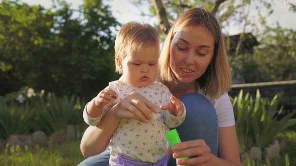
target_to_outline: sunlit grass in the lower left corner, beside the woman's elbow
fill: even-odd
[[[48,146],[19,146],[0,152],[0,165],[77,165],[85,157],[80,152],[80,140]]]

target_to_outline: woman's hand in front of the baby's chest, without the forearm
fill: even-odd
[[[114,107],[114,115],[118,118],[133,118],[149,123],[153,118],[152,111],[159,113],[160,108],[138,92],[131,92]]]

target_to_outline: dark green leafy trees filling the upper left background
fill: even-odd
[[[75,11],[64,0],[50,9],[3,0],[0,23],[1,73],[20,87],[89,97],[117,77],[111,28],[119,23],[101,0]]]

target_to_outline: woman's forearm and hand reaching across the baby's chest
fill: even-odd
[[[155,104],[137,92],[132,92],[115,104],[97,126],[89,126],[83,134],[80,149],[84,156],[101,153],[108,145],[121,118],[133,118],[149,123],[152,111],[160,112]]]

